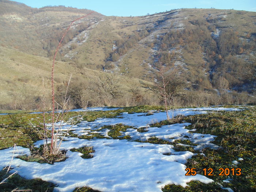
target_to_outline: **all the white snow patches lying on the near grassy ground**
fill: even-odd
[[[237,108],[186,108],[170,110],[170,116],[204,114],[211,111],[228,110],[237,111]],[[111,113],[111,112],[110,112]],[[42,180],[56,183],[58,187],[55,191],[69,192],[76,187],[91,187],[99,191],[154,191],[161,192],[161,188],[167,184],[176,184],[183,187],[187,182],[198,180],[204,183],[212,182],[211,179],[197,174],[196,176],[185,176],[184,165],[193,153],[189,151],[175,151],[172,145],[151,144],[142,142],[132,142],[133,139],[142,141],[150,137],[157,137],[173,141],[175,139],[189,139],[197,144],[194,147],[200,150],[202,147],[218,146],[211,143],[216,136],[199,133],[189,133],[186,126],[189,123],[165,125],[161,128],[149,127],[149,124],[166,119],[165,112],[155,111],[152,115],[147,113],[123,113],[119,118],[98,118],[93,122],[82,121],[77,125],[59,123],[62,131],[71,129],[78,135],[91,135],[94,130],[108,136],[109,129],[101,129],[104,125],[114,125],[122,123],[133,126],[122,132],[122,135],[130,135],[131,140],[119,139],[96,139],[91,140],[79,138],[65,138],[61,144],[61,149],[68,150],[68,158],[64,162],[56,162],[53,165],[37,162],[26,162],[17,157],[22,154],[30,154],[28,148],[17,147],[0,150],[0,169],[11,164],[18,174],[28,179],[42,178]],[[121,118],[120,118],[121,117]],[[49,127],[50,128],[50,127]],[[136,128],[144,128],[140,133]],[[191,131],[191,130],[190,130]],[[192,130],[193,131],[193,130]],[[194,130],[195,131],[195,130]],[[184,137],[186,136],[186,137]],[[38,141],[35,144],[42,144]],[[82,154],[69,151],[72,148],[92,146],[95,150],[93,158],[83,159]],[[170,155],[163,155],[170,153]]]

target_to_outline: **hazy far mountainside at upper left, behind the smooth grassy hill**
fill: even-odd
[[[55,50],[67,25],[92,11],[64,6],[38,9],[8,0],[0,1],[0,4],[0,45],[38,56],[52,56],[48,52]],[[94,12],[86,19],[101,16]],[[68,35],[73,37],[72,30]]]

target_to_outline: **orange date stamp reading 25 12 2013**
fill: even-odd
[[[186,168],[185,171],[187,173],[185,176],[195,176],[197,174],[196,168]],[[242,170],[240,168],[219,168],[217,176],[240,176],[242,174]],[[214,176],[214,171],[212,168],[204,168],[203,169],[203,175],[204,176]]]

